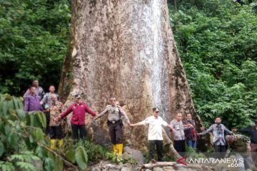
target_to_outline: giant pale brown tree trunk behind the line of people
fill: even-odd
[[[98,113],[115,96],[131,123],[151,115],[153,107],[167,122],[178,111],[196,115],[166,0],[72,1],[59,94],[70,105],[76,93]],[[97,142],[109,142],[105,119],[99,126],[104,129],[93,129]],[[147,128],[125,127],[124,136],[133,147],[147,148]]]

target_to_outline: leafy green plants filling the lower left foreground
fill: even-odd
[[[66,139],[63,148],[50,150],[49,138],[42,131],[46,128],[45,114],[24,113],[21,100],[0,94],[0,170],[36,170],[37,160],[49,171],[64,170],[65,160],[74,164],[75,170],[86,170],[88,162],[106,157],[108,149],[89,141],[74,145]]]

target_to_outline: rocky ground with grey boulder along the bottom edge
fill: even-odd
[[[137,164],[131,163],[113,163],[111,161],[100,161],[91,165],[90,171],[237,171],[238,167],[228,167],[227,164],[216,165],[182,165],[177,162],[156,162],[147,164],[143,154],[139,150],[133,150],[130,147],[124,147],[124,160],[133,158]],[[257,171],[256,167],[252,167],[253,171]]]

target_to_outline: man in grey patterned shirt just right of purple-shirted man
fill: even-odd
[[[49,108],[51,107],[51,95],[56,94],[55,93],[55,87],[54,85],[49,86],[49,93],[46,93],[44,95],[44,98],[42,98],[40,104],[44,106],[44,113],[46,114],[46,133],[49,133],[49,122],[50,122],[50,111]],[[58,95],[56,94],[56,97],[58,98]]]

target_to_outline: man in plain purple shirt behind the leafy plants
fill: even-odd
[[[43,110],[39,99],[39,96],[36,95],[36,87],[31,86],[29,88],[29,94],[24,98],[24,111],[31,112]]]

